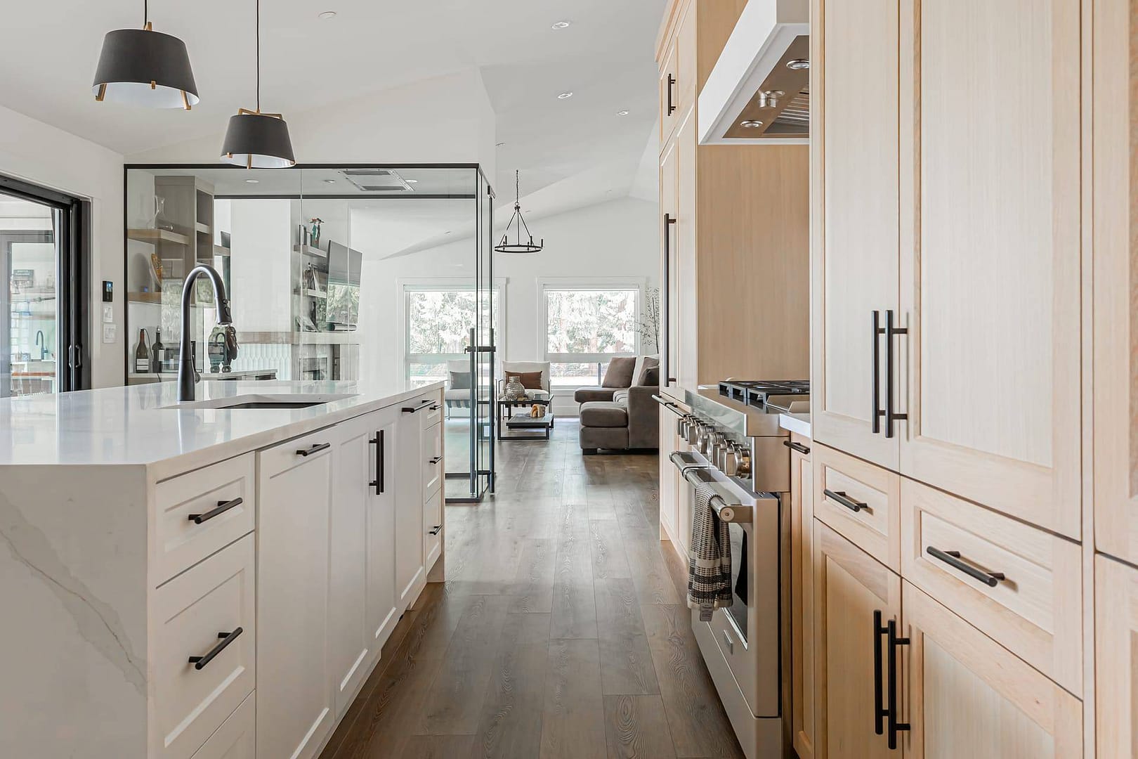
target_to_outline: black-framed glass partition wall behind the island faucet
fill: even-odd
[[[189,271],[225,281],[237,356],[198,278],[203,381],[446,381],[447,498],[493,487],[493,192],[464,165],[126,167],[127,383],[176,378]],[[226,371],[228,370],[228,371]]]

